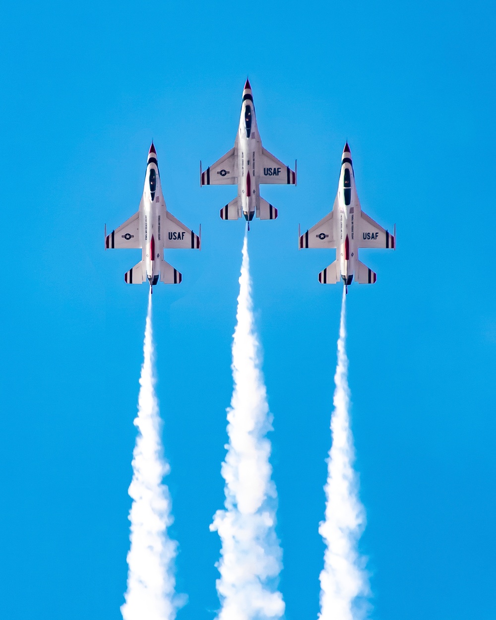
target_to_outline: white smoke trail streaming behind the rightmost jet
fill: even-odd
[[[325,520],[319,527],[326,549],[321,572],[321,620],[355,620],[368,612],[368,575],[357,542],[365,528],[365,510],[358,499],[353,470],[355,451],[350,428],[350,389],[346,355],[346,294],[343,289],[334,411],[330,420],[332,447],[327,459]]]

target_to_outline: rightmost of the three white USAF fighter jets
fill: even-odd
[[[332,211],[303,235],[299,234],[299,248],[304,247],[337,249],[336,260],[319,273],[319,282],[336,284],[343,280],[347,293],[353,275],[358,284],[374,284],[377,279],[377,274],[358,260],[358,248],[394,250],[396,247],[396,224],[393,234],[389,234],[361,210],[348,142],[343,149],[339,186]]]

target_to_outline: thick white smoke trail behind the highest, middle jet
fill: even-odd
[[[285,610],[278,591],[281,547],[275,533],[277,492],[269,463],[272,415],[254,329],[247,235],[242,250],[237,325],[232,342],[234,391],[228,409],[228,453],[222,464],[226,500],[211,531],[221,538],[216,582],[219,620],[268,620]]]

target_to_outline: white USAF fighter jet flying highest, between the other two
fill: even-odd
[[[260,197],[260,184],[296,185],[296,161],[294,171],[266,151],[260,141],[255,118],[252,87],[246,81],[241,102],[239,129],[234,148],[204,172],[200,162],[201,185],[237,185],[237,197],[221,208],[222,219],[250,221],[277,218],[277,209]]]

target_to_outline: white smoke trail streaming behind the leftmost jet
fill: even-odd
[[[163,456],[162,422],[155,395],[154,348],[151,322],[151,293],[144,331],[143,366],[139,378],[138,437],[133,451],[133,499],[131,547],[128,552],[124,620],[174,620],[179,606],[175,597],[174,558],[177,543],[167,536],[173,519],[169,489],[162,479],[170,467]]]

